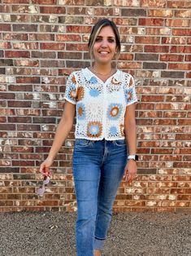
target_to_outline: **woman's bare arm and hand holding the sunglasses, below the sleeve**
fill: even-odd
[[[72,130],[75,117],[75,109],[76,106],[66,100],[63,109],[63,116],[61,117],[59,125],[57,126],[52,147],[50,148],[50,152],[46,158],[46,161],[43,161],[41,164],[40,171],[42,171],[43,168],[50,167],[52,165],[54,158],[63,145],[64,140],[67,138],[70,130]]]

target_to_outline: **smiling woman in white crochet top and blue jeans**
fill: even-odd
[[[119,52],[116,25],[111,20],[99,20],[89,38],[93,64],[68,77],[63,116],[49,156],[40,168],[52,165],[76,113],[73,177],[78,256],[101,255],[119,183],[123,175],[130,182],[137,174],[137,96],[132,76],[113,64]]]

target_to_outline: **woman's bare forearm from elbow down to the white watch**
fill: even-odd
[[[125,138],[128,143],[129,155],[134,155],[137,152],[137,129],[136,121],[127,121],[125,124]]]

